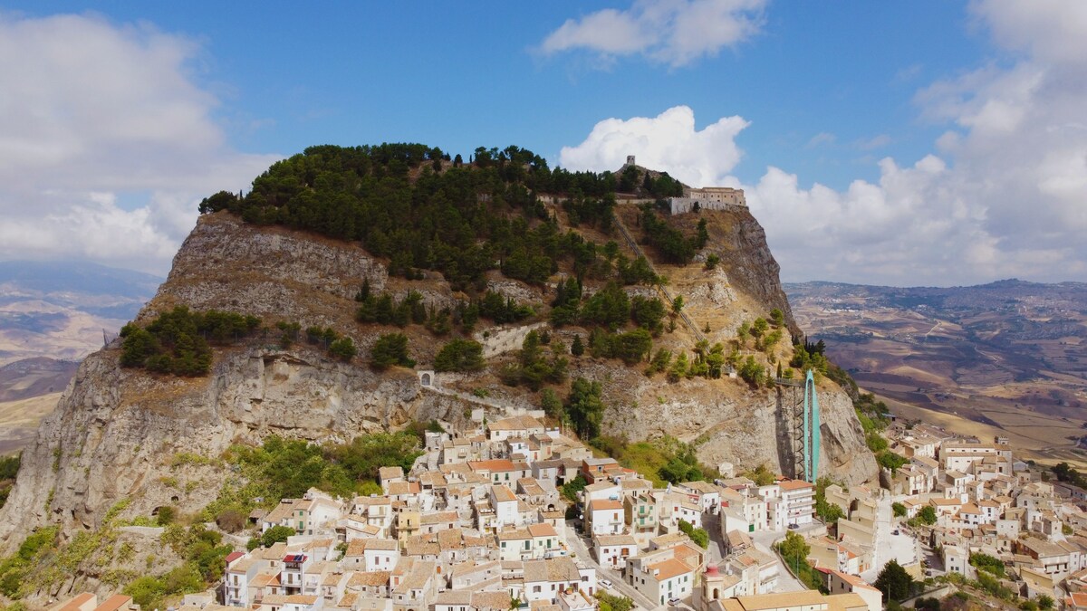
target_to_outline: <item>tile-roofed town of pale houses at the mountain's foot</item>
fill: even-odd
[[[311,488],[253,512],[221,587],[182,609],[876,611],[898,608],[892,563],[922,601],[1087,607],[1087,490],[1005,439],[895,423],[882,488],[727,463],[662,488],[541,416],[428,431],[408,472],[380,469],[380,494]]]

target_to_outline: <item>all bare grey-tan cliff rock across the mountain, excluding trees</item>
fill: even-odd
[[[788,312],[788,303],[777,282],[777,264],[750,214],[715,212],[708,217],[711,249],[721,253],[722,266],[713,273],[696,273],[699,265],[667,273],[673,290],[689,297],[691,316],[712,325],[711,341],[724,341],[741,320],[765,315],[775,307]],[[355,246],[246,225],[216,213],[200,219],[140,319],[175,304],[233,310],[260,315],[267,325],[286,320],[303,328],[333,326],[352,336],[365,354],[377,335],[389,329],[353,321],[352,297],[362,278],[368,278],[375,291],[420,290],[430,304],[452,303],[458,297],[440,277],[413,283],[390,278],[383,261]],[[492,284],[523,300],[546,303],[552,298],[548,290],[501,276]],[[412,336],[418,369],[427,369],[440,342],[422,327],[405,333]],[[505,335],[496,334],[488,346],[515,349],[515,341],[498,341]],[[692,341],[678,329],[659,345],[689,350]],[[502,358],[491,352],[488,358]],[[362,358],[345,364],[304,345],[279,349],[274,334],[216,349],[212,373],[203,378],[123,370],[118,353],[115,344],[84,361],[57,411],[26,449],[17,483],[0,510],[0,537],[8,549],[47,523],[60,523],[68,534],[96,527],[107,509],[123,498],[130,499],[132,515],[148,515],[166,504],[197,511],[228,476],[215,459],[234,442],[255,444],[273,433],[347,440],[402,427],[411,420],[463,424],[472,409],[493,410],[499,401],[538,404],[526,390],[499,385],[491,372],[449,376],[449,387],[435,390],[422,387],[409,370],[377,374]],[[497,370],[497,361],[491,362]],[[667,434],[698,440],[708,463],[765,463],[787,473],[791,469],[789,423],[773,391],[751,391],[729,379],[672,385],[663,376],[647,378],[641,367],[589,357],[573,360],[571,376],[576,375],[604,384],[609,433],[632,439]],[[490,389],[488,401],[473,402],[468,391],[477,387]],[[875,462],[864,449],[848,398],[827,383],[823,406],[825,471],[848,483],[874,477]]]

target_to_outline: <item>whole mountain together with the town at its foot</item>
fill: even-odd
[[[550,172],[515,147],[468,165],[315,147],[270,172],[201,203],[155,298],[24,452],[0,512],[17,604],[1074,600],[1067,490],[1005,439],[891,424],[859,396],[792,321],[741,190],[634,159]],[[345,187],[378,179],[414,212]],[[457,210],[457,230],[432,230]],[[1067,574],[1049,572],[1057,548]]]

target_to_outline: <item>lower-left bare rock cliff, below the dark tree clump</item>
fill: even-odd
[[[134,515],[165,504],[197,511],[222,485],[211,461],[232,444],[271,434],[348,441],[413,420],[458,422],[465,407],[422,391],[410,372],[378,376],[308,349],[234,349],[195,381],[121,370],[117,357],[110,349],[84,361],[42,422],[0,536],[53,522],[66,532],[95,527],[124,498]]]

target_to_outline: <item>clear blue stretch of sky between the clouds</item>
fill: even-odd
[[[917,120],[917,85],[976,65],[987,48],[970,35],[961,3],[798,2],[771,4],[749,41],[678,67],[633,57],[597,70],[584,53],[539,53],[550,32],[592,12],[585,7],[104,2],[95,13],[199,42],[193,77],[220,98],[215,116],[232,142],[251,152],[408,140],[466,153],[516,144],[554,163],[601,119],[686,104],[700,124],[733,114],[751,122],[741,177],[776,164],[837,188],[877,176],[877,154],[923,157],[939,128]],[[84,3],[45,8],[23,10],[86,13]],[[809,147],[820,134],[835,141]],[[861,145],[882,135],[886,146]]]

